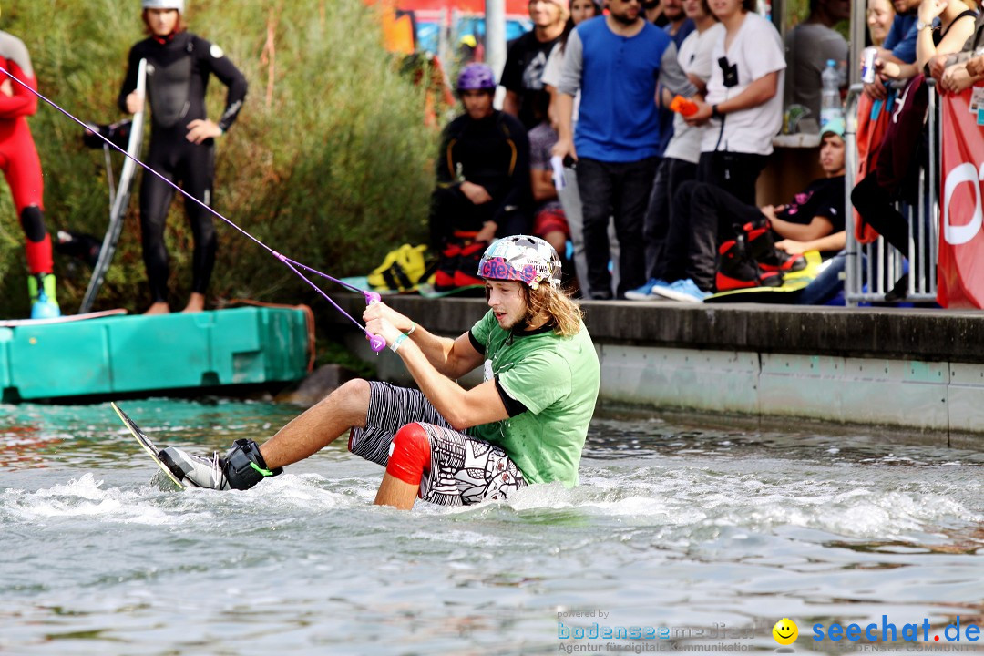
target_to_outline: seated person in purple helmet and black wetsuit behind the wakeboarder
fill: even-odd
[[[438,289],[482,284],[476,271],[488,243],[530,231],[529,140],[519,119],[493,108],[495,88],[485,64],[461,70],[464,113],[444,130],[431,196]]]

